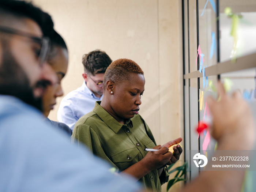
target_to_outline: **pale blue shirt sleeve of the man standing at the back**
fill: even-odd
[[[74,104],[71,101],[61,101],[59,110],[57,112],[57,120],[61,123],[68,125],[73,130],[78,118],[74,112]]]

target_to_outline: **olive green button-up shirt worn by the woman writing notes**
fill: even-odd
[[[77,143],[76,140],[78,145],[80,142],[86,144],[94,155],[120,171],[142,160],[148,153],[144,148],[156,146],[152,132],[140,115],[121,124],[100,106],[100,101],[95,103],[93,111],[76,122],[71,141]],[[166,166],[163,172],[165,177],[161,177],[161,181],[157,170],[139,181],[153,191],[161,191],[161,184],[169,178]]]

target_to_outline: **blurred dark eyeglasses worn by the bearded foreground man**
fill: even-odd
[[[40,51],[37,54],[39,58],[39,65],[42,66],[42,64],[47,60],[47,56],[50,50],[50,39],[48,37],[34,37],[29,33],[4,26],[0,26],[0,32],[30,38],[33,42],[40,45]]]

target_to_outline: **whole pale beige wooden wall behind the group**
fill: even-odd
[[[48,12],[69,49],[64,95],[83,83],[82,55],[104,50],[128,58],[146,79],[140,114],[157,143],[183,134],[182,17],[179,0],[34,0]],[[49,115],[57,120],[62,98]],[[163,187],[166,191],[166,187]]]

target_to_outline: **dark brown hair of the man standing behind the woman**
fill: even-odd
[[[88,54],[84,54],[82,60],[84,72],[89,72],[93,75],[105,73],[111,62],[110,57],[104,51],[100,50],[94,50]]]

